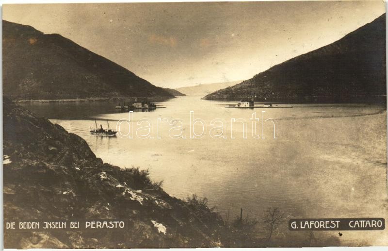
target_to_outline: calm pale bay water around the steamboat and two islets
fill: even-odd
[[[133,130],[147,119],[154,138],[102,137],[89,134],[98,124],[116,128],[129,113],[116,113],[113,102],[25,103],[39,116],[48,117],[67,131],[84,138],[97,157],[120,167],[149,168],[163,189],[186,198],[195,193],[207,197],[211,206],[226,218],[243,208],[244,215],[260,218],[267,207],[279,207],[291,218],[387,217],[386,110],[362,104],[295,104],[293,108],[225,108],[233,102],[179,97],[159,103],[166,108],[133,113]],[[204,137],[190,139],[190,111],[205,121]],[[263,138],[252,137],[249,118],[277,121],[277,138],[270,122],[263,126]],[[186,138],[171,138],[172,125],[180,121]],[[224,119],[226,138],[211,138],[210,121]],[[242,124],[247,121],[247,138]],[[179,125],[179,122],[174,124]],[[216,124],[219,125],[219,124]],[[123,134],[128,124],[121,126]],[[195,132],[202,129],[195,124]],[[143,131],[145,132],[145,131]],[[177,132],[177,131],[175,131]],[[220,133],[218,130],[217,133]],[[159,137],[161,138],[158,138]],[[234,138],[232,138],[232,135]],[[287,225],[287,224],[286,224]],[[285,233],[287,233],[285,231]],[[341,236],[348,242],[386,244],[387,232],[352,232]],[[287,233],[290,234],[290,233]],[[297,233],[292,233],[297,234]],[[323,234],[323,233],[319,233]],[[337,235],[337,233],[325,233]]]

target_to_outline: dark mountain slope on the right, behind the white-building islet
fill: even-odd
[[[386,95],[385,14],[338,41],[204,99],[372,101]],[[381,98],[380,100],[385,100]]]

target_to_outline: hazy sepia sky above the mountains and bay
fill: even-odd
[[[3,19],[59,33],[164,87],[227,82],[334,42],[380,1],[3,5]]]

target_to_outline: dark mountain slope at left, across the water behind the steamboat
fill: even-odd
[[[59,34],[5,20],[3,93],[13,99],[172,97]]]

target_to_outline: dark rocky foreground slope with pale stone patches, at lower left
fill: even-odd
[[[5,231],[5,248],[220,246],[223,221],[170,197],[137,168],[96,158],[85,140],[4,98],[4,219],[123,219],[126,231]]]

